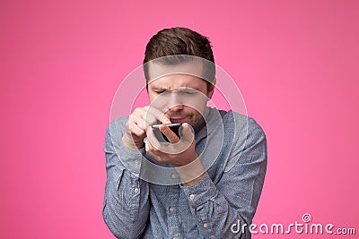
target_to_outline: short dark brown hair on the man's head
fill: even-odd
[[[204,69],[206,69],[208,87],[211,85],[210,82],[215,83],[215,58],[208,38],[194,30],[179,27],[160,30],[147,43],[144,53],[144,76],[147,82],[149,81],[149,69],[148,64],[145,63],[169,55],[176,56],[164,57],[165,62],[163,64],[184,62],[188,60],[185,55],[194,55],[206,59]]]

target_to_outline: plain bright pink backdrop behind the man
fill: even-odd
[[[267,133],[254,222],[308,212],[359,234],[359,2],[208,2],[1,1],[0,238],[113,238],[101,218],[111,100],[173,26],[211,39]]]

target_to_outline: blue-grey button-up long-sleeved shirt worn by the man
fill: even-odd
[[[206,109],[209,124],[218,120],[211,117],[214,111]],[[117,238],[250,238],[249,225],[267,169],[266,136],[252,118],[232,111],[219,112],[223,122],[220,149],[211,148],[210,135],[218,135],[217,128],[208,132],[208,122],[195,126],[197,154],[207,152],[199,157],[206,173],[191,186],[180,182],[154,184],[151,176],[141,175],[143,171],[151,171],[144,168],[144,158],[154,163],[155,160],[144,149],[132,152],[122,145],[128,117],[118,118],[109,125],[104,146],[107,181],[102,215],[113,235]],[[211,163],[206,164],[208,161]],[[169,177],[176,179],[173,174]],[[244,231],[233,231],[233,224]]]

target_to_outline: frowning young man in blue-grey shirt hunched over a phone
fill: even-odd
[[[185,28],[159,31],[147,44],[144,75],[151,106],[107,129],[109,230],[118,238],[250,238],[266,136],[250,117],[206,107],[216,81],[208,39]],[[155,135],[159,123],[169,143]],[[182,124],[181,137],[166,125],[173,123]]]

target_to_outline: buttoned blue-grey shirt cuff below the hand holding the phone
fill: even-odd
[[[201,180],[199,180],[196,184],[191,186],[180,185],[185,192],[189,205],[194,208],[206,203],[215,197],[217,192],[217,188],[215,184],[212,182],[211,178],[207,173],[205,173]]]

